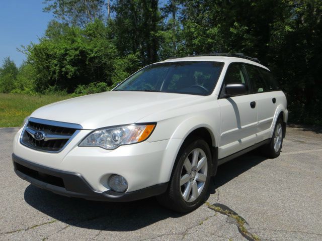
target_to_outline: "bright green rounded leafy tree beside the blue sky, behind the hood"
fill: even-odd
[[[101,21],[88,24],[86,29],[51,22],[48,29],[49,35],[41,38],[39,44],[25,49],[28,62],[37,73],[36,91],[59,86],[71,93],[79,84],[111,84],[117,50]]]

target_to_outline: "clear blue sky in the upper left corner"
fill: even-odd
[[[38,43],[52,19],[43,13],[43,0],[5,0],[0,5],[0,66],[10,57],[20,66],[26,56],[17,51],[21,45]]]

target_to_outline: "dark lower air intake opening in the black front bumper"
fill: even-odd
[[[55,185],[58,187],[65,187],[64,182],[63,182],[62,178],[60,178],[60,177],[55,177],[52,175],[48,175],[48,174],[45,174],[42,172],[35,171],[33,169],[30,169],[28,167],[20,165],[17,162],[15,162],[14,165],[15,165],[15,168],[17,171],[20,171],[29,177],[35,178],[39,181],[49,183],[51,185]]]

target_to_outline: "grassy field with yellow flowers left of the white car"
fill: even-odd
[[[59,100],[71,98],[70,95],[24,95],[0,93],[0,128],[21,127],[24,118],[35,109]]]

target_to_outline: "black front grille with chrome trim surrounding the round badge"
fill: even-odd
[[[77,124],[30,118],[22,133],[21,143],[39,151],[59,152],[79,129],[82,127]],[[42,140],[36,140],[34,135],[39,132],[43,134]]]

